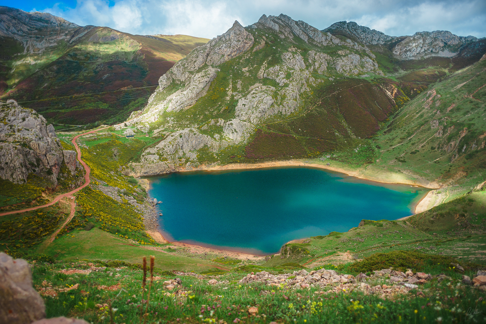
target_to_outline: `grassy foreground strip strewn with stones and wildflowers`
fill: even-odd
[[[463,323],[469,307],[486,305],[486,272],[466,271],[471,280],[453,267],[447,274],[382,269],[356,276],[328,269],[217,276],[155,269],[144,280],[141,265],[122,261],[28,264],[0,254],[0,322],[121,324],[139,323],[142,315],[147,323],[174,324],[413,323],[417,316],[420,323]]]

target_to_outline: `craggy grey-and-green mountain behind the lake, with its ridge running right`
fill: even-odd
[[[376,164],[375,138],[401,108],[484,52],[484,40],[449,32],[391,37],[353,22],[322,32],[285,15],[247,27],[235,21],[162,75],[147,106],[126,121],[160,138],[134,174],[295,158]]]

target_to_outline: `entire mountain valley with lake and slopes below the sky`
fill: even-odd
[[[482,320],[484,37],[0,17],[1,258],[28,261],[48,318]]]

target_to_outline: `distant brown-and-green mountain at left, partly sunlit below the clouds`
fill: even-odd
[[[80,27],[9,7],[0,7],[0,20],[1,98],[66,124],[126,119],[160,75],[208,41]]]

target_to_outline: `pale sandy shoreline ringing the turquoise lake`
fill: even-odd
[[[317,168],[317,169],[324,169],[328,171],[334,171],[334,172],[339,172],[346,174],[348,176],[353,176],[358,179],[363,179],[363,180],[368,180],[368,181],[373,181],[377,183],[382,183],[382,184],[402,184],[402,185],[410,185],[414,187],[422,187],[422,188],[427,188],[424,187],[423,185],[417,184],[413,181],[408,181],[408,182],[396,182],[396,181],[386,181],[383,179],[375,179],[375,178],[370,178],[370,177],[365,177],[361,174],[359,174],[359,171],[350,171],[342,168],[337,168],[337,167],[331,167],[327,165],[322,165],[322,164],[316,164],[316,163],[306,163],[300,160],[290,160],[290,161],[274,161],[274,162],[264,162],[264,163],[235,163],[235,164],[227,164],[227,165],[222,165],[222,166],[200,166],[197,168],[176,168],[174,172],[193,172],[193,171],[226,171],[226,170],[248,170],[248,169],[265,169],[265,168],[278,168],[278,167],[308,167],[308,168]],[[144,179],[146,182],[149,182],[148,180]],[[147,185],[145,183],[145,185]],[[427,189],[437,189],[437,188],[427,188]],[[433,195],[433,191],[429,191],[426,195],[424,195],[413,207],[414,209],[414,214],[421,213],[425,210],[427,210],[427,206],[430,203],[431,197]],[[424,209],[425,208],[425,209]],[[411,215],[413,216],[413,215]],[[400,218],[399,220],[404,220],[407,219],[408,217],[403,217]],[[196,253],[204,253],[204,252],[212,252],[212,253],[218,253],[222,254],[224,256],[228,257],[237,257],[237,258],[247,258],[249,259],[254,258],[254,255],[249,255],[244,252],[236,252],[236,251],[229,251],[229,250],[224,250],[224,249],[214,249],[214,248],[209,248],[205,246],[200,246],[200,245],[193,245],[193,244],[188,244],[188,243],[182,243],[182,242],[170,242],[169,240],[165,239],[160,233],[160,231],[151,231],[148,232],[157,242],[159,243],[172,243],[175,246],[185,246],[185,247],[190,247],[191,251],[196,252]],[[294,240],[292,240],[294,241]],[[290,241],[290,242],[292,242]],[[261,258],[261,256],[259,257]]]

